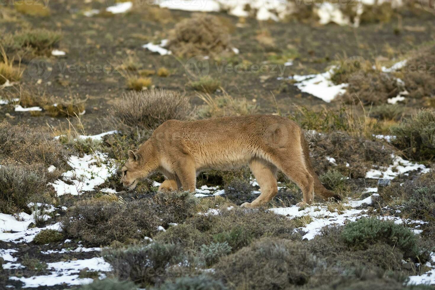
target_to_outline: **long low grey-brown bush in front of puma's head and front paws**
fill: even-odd
[[[181,223],[196,212],[196,207],[196,197],[187,192],[157,193],[127,203],[81,201],[68,210],[62,227],[67,236],[91,245],[108,245],[114,240],[124,243],[152,237],[159,226]]]

